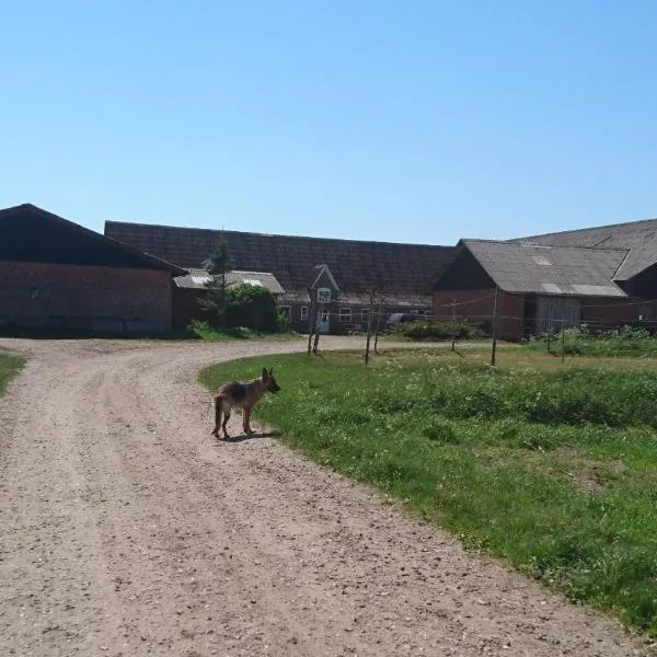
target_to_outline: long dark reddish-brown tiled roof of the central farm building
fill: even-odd
[[[453,246],[276,235],[143,223],[105,222],[105,234],[182,267],[203,267],[217,239],[226,240],[237,269],[270,272],[286,292],[301,293],[316,265],[327,265],[342,291],[370,286],[389,295],[428,295]]]

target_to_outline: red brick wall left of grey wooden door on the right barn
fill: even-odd
[[[452,303],[457,303],[452,308]],[[433,315],[438,319],[470,320],[493,326],[495,290],[435,290]],[[525,298],[520,295],[497,293],[497,336],[517,341],[522,337]]]

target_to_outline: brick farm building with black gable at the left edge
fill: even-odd
[[[25,204],[0,210],[0,324],[72,331],[172,328],[183,269]]]

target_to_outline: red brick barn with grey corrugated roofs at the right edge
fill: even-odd
[[[656,318],[657,220],[507,242],[461,240],[434,285],[433,313],[505,339]]]

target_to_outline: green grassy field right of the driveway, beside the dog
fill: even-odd
[[[255,415],[290,447],[657,635],[657,364],[464,355],[389,351],[367,369],[353,353],[276,356],[199,379],[274,366],[283,391]]]

